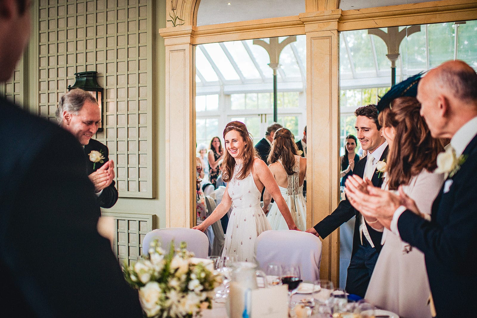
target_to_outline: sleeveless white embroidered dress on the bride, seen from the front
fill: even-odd
[[[256,262],[255,240],[261,232],[271,229],[260,207],[261,192],[257,189],[252,173],[237,179],[242,165],[235,165],[232,179],[228,182],[228,195],[233,210],[228,219],[222,256],[234,256],[237,261]]]

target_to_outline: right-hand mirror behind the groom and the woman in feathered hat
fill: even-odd
[[[446,60],[464,60],[477,70],[476,34],[476,20],[341,32],[340,156],[345,155],[346,144],[353,141],[347,137],[356,137],[354,110],[376,104],[394,82]],[[354,151],[360,158],[366,155],[359,140]],[[339,282],[343,288],[352,252],[354,222],[352,218],[340,228]]]

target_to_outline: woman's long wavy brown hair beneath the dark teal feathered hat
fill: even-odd
[[[437,154],[444,150],[440,140],[431,136],[420,109],[414,97],[400,97],[393,100],[391,109],[379,113],[380,125],[396,131],[386,163],[390,190],[409,184],[422,169],[432,172],[437,167]]]

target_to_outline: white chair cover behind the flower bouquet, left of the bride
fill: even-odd
[[[180,242],[185,241],[187,243],[187,250],[194,252],[198,258],[207,258],[208,256],[208,239],[207,235],[197,229],[186,228],[168,228],[168,229],[155,229],[147,233],[143,240],[143,254],[147,255],[149,244],[159,239],[161,247],[169,251],[171,240],[174,239],[176,248],[179,247]]]

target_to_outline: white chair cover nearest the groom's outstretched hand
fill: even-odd
[[[259,267],[269,263],[300,265],[301,279],[320,279],[321,240],[311,233],[292,230],[262,232],[255,243]]]

